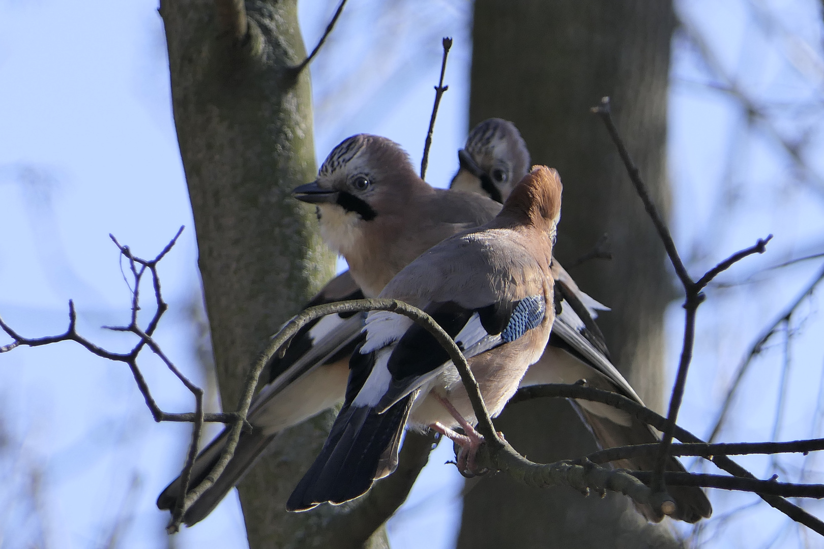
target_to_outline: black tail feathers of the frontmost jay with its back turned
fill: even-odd
[[[414,394],[407,395],[383,413],[372,407],[344,406],[321,454],[289,496],[286,509],[305,511],[327,501],[342,504],[394,472],[413,400]]]

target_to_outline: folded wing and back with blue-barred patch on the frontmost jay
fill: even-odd
[[[532,252],[511,231],[469,233],[429,249],[381,295],[424,309],[471,358],[543,321],[549,269]],[[350,362],[369,371],[356,406],[382,412],[451,365],[425,328],[398,314],[369,314],[364,329],[366,341]]]

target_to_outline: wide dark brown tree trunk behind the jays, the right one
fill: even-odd
[[[654,200],[666,209],[670,2],[476,0],[470,123],[512,120],[532,162],[559,170],[564,206],[555,255],[564,265],[609,235],[613,259],[570,269],[612,308],[599,324],[612,358],[644,402],[662,408],[663,313],[673,297],[666,256],[602,122],[589,108],[612,98],[616,124]],[[529,458],[547,463],[595,449],[566,402],[523,402],[496,422]],[[465,496],[458,547],[670,547],[618,495],[583,498],[499,476]]]

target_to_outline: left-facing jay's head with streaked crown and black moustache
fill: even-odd
[[[321,235],[340,254],[381,216],[395,213],[411,193],[431,188],[415,173],[409,156],[386,137],[347,137],[326,157],[317,179],[293,190],[317,206]]]

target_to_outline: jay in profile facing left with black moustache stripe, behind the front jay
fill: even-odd
[[[501,207],[480,194],[432,188],[395,142],[364,134],[335,147],[316,181],[294,193],[316,205],[321,235],[349,263],[349,271],[330,281],[307,306],[376,297],[414,258],[447,236],[489,221]],[[283,357],[273,357],[269,384],[250,407],[252,429],[241,434],[218,481],[186,512],[186,524],[204,519],[280,430],[344,399],[349,356],[362,338],[365,316],[332,314],[307,324]],[[227,431],[218,435],[198,456],[193,484],[203,480],[217,461],[226,435]],[[162,491],[157,506],[172,509],[179,493],[177,478]]]

